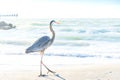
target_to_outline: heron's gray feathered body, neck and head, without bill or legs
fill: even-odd
[[[38,52],[38,51],[44,51],[45,49],[47,49],[54,41],[55,38],[55,32],[52,29],[52,23],[55,22],[54,20],[52,20],[50,22],[50,31],[52,32],[52,38],[50,39],[49,36],[43,36],[41,38],[39,38],[37,41],[35,41],[35,43],[28,47],[26,49],[26,53],[31,53],[31,52]]]

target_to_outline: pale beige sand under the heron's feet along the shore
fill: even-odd
[[[119,80],[120,64],[71,65],[55,70],[59,76],[38,77],[39,70],[1,70],[1,80]],[[46,73],[46,70],[43,70]]]

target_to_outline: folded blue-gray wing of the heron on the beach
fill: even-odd
[[[35,43],[26,50],[26,53],[44,50],[49,46],[49,42],[50,38],[48,36],[43,36],[35,41]]]

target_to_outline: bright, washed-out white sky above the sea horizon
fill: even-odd
[[[0,14],[27,18],[120,18],[120,0],[0,0]]]

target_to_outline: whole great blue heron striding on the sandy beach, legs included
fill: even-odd
[[[44,51],[53,43],[55,39],[55,32],[52,28],[53,23],[58,23],[58,22],[56,22],[55,20],[52,20],[50,22],[50,31],[52,32],[51,39],[49,36],[43,36],[39,38],[32,46],[26,49],[26,53],[40,52],[41,62],[40,62],[40,75],[39,76],[44,76],[42,75],[42,65],[48,70],[48,72],[55,73],[54,71],[50,70],[42,61]]]

